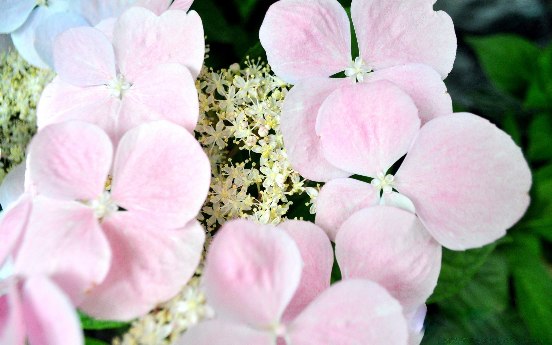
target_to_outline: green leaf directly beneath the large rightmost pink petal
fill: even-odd
[[[485,247],[470,249],[464,252],[451,251],[443,248],[441,272],[437,286],[429,297],[428,303],[447,299],[466,286],[487,261],[499,242]]]

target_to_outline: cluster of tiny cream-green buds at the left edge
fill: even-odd
[[[30,66],[17,51],[0,52],[0,182],[25,159],[25,147],[36,132],[36,104],[54,75]]]

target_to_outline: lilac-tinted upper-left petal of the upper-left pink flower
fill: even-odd
[[[78,26],[57,35],[54,66],[61,79],[75,86],[107,84],[115,77],[115,53],[102,31]]]

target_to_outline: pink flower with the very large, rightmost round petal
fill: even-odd
[[[333,166],[373,178],[336,178],[320,190],[316,224],[332,240],[354,211],[385,204],[416,213],[441,245],[465,250],[504,236],[529,205],[531,173],[509,135],[468,113],[420,128],[414,102],[389,81],[330,94],[316,134]],[[406,153],[395,176],[388,174]]]

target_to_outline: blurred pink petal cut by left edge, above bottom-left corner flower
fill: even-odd
[[[19,200],[10,204],[9,208],[3,210],[0,217],[0,267],[10,254],[18,251],[31,209],[31,197],[25,193]]]

